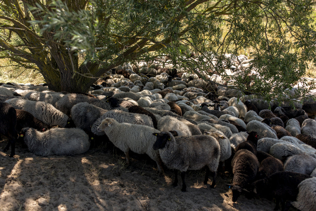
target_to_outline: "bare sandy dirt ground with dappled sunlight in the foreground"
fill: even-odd
[[[1,151],[7,144],[0,142]],[[10,151],[10,150],[9,150]],[[159,176],[155,162],[105,144],[76,156],[40,157],[16,146],[16,155],[0,152],[0,210],[273,210],[266,199],[232,202],[226,183],[217,177],[203,184],[204,171],[188,171],[187,192],[172,186],[174,174]]]

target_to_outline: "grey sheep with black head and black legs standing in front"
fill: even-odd
[[[162,162],[169,169],[175,169],[173,186],[178,185],[178,171],[181,171],[182,191],[186,191],[185,172],[199,170],[206,166],[204,184],[207,184],[209,172],[213,172],[211,188],[216,185],[216,172],[221,149],[214,137],[209,135],[176,136],[170,132],[153,133],[157,136],[153,145],[158,150]]]

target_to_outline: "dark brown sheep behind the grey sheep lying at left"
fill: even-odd
[[[46,131],[49,125],[35,118],[31,113],[15,109],[16,111],[16,131],[21,132],[24,127],[32,127],[38,131]]]

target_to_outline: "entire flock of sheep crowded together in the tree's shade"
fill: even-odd
[[[134,72],[135,71],[135,72]],[[0,86],[0,134],[4,151],[16,141],[38,156],[76,155],[109,140],[125,153],[147,154],[157,170],[205,168],[204,184],[218,173],[233,175],[241,194],[276,199],[276,208],[316,207],[315,102],[267,103],[194,74],[130,65],[107,72],[88,93],[57,93],[43,85]],[[211,90],[211,91],[208,91]],[[269,109],[270,108],[270,109]],[[315,107],[316,108],[316,107]]]

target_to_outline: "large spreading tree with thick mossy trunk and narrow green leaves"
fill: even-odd
[[[281,99],[316,61],[311,0],[0,2],[3,55],[36,66],[55,91],[85,92],[109,69],[159,55],[203,78],[203,70],[225,75],[232,65],[225,53],[252,48],[258,75],[249,78],[244,70],[232,85]]]

